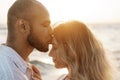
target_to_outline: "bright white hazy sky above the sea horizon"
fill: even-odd
[[[0,0],[0,24],[15,0]],[[120,0],[38,0],[50,13],[51,22],[70,19],[87,23],[120,23]]]

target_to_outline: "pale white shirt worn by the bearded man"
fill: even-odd
[[[12,48],[0,45],[0,80],[29,80],[27,63]]]

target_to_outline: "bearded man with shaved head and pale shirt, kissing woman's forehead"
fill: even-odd
[[[27,60],[34,48],[48,51],[52,30],[47,9],[37,0],[16,0],[8,11],[7,25],[6,45],[0,46],[0,80],[40,80]]]

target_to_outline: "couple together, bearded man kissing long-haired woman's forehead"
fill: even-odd
[[[37,0],[17,0],[8,11],[8,37],[0,46],[0,80],[42,80],[28,56],[36,48],[53,58],[56,68],[67,68],[61,80],[112,80],[102,45],[79,21],[54,25]],[[54,79],[53,79],[54,80]]]

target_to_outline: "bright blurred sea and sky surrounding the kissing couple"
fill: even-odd
[[[16,0],[0,0],[0,44],[7,38],[7,12]],[[120,0],[37,0],[50,13],[51,23],[71,19],[88,22],[88,27],[101,41],[115,80],[120,80]],[[50,46],[51,48],[51,46]],[[43,80],[57,80],[66,69],[56,69],[48,53],[33,50],[30,62],[38,66]]]

